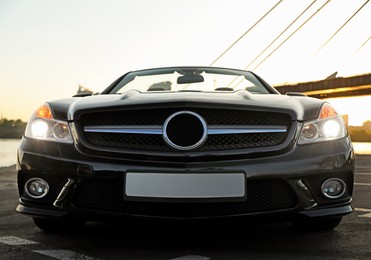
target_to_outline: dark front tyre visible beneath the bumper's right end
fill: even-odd
[[[336,228],[343,217],[295,219],[292,224],[300,229],[306,230],[332,230]]]

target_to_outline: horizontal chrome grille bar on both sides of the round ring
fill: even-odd
[[[85,126],[87,133],[111,133],[111,134],[148,134],[162,135],[161,125],[117,125],[117,126]],[[259,134],[259,133],[286,133],[286,126],[252,126],[252,125],[222,125],[208,126],[208,135],[227,135],[227,134]]]

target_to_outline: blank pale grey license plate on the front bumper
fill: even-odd
[[[243,173],[126,174],[125,198],[222,199],[245,198]],[[241,199],[240,199],[241,200]]]

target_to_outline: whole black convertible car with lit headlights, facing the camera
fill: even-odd
[[[101,94],[47,102],[17,170],[17,211],[44,230],[265,216],[331,229],[352,212],[342,117],[234,69],[133,71]]]

